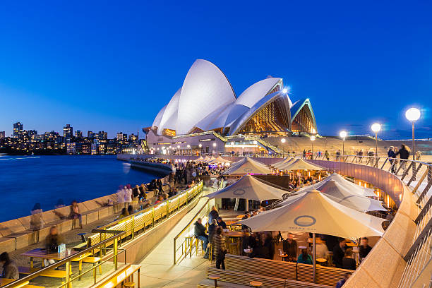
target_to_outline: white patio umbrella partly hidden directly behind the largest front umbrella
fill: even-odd
[[[383,208],[383,205],[381,205],[380,201],[367,198],[355,192],[349,191],[348,188],[337,183],[335,180],[322,182],[323,183],[318,182],[318,184],[315,184],[314,186],[305,187],[311,188],[301,189],[295,192],[295,196],[287,198],[287,200],[282,201],[280,205],[287,205],[289,203],[292,203],[296,199],[296,196],[301,196],[303,195],[303,193],[316,189],[321,193],[324,193],[324,195],[331,200],[334,200],[337,203],[340,203],[344,206],[347,206],[348,208],[352,208],[360,212],[377,210],[385,211],[385,208]]]

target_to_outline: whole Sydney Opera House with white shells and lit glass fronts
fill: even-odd
[[[143,131],[148,134],[152,149],[202,148],[203,142],[219,139],[222,143],[206,144],[222,151],[220,146],[227,139],[312,133],[317,128],[311,101],[302,99],[293,103],[282,78],[268,76],[236,97],[220,68],[198,59],[152,126]],[[203,138],[204,135],[215,138]]]

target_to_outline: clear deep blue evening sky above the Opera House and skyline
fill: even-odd
[[[432,137],[430,1],[3,1],[0,130],[136,132],[195,59],[237,95],[268,75],[309,97],[318,132]]]

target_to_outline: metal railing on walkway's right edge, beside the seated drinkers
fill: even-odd
[[[224,181],[220,181],[220,184],[217,187],[217,190],[220,190],[224,187]],[[215,199],[207,199],[203,207],[196,212],[196,215],[192,218],[191,221],[186,224],[186,227],[179,232],[174,237],[174,265],[179,261],[186,258],[189,254],[192,257],[193,249],[198,253],[198,244],[193,235],[194,227],[193,224],[198,220],[198,218],[203,218],[203,222],[207,223],[207,215],[210,213],[210,209],[212,205],[215,205]],[[179,254],[179,255],[178,255]]]

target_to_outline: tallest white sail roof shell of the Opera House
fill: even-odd
[[[224,73],[209,61],[196,60],[181,88],[176,133],[187,134],[210,113],[235,100]]]

